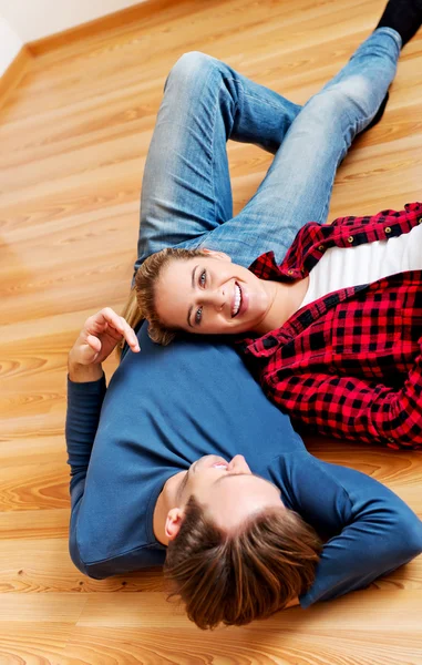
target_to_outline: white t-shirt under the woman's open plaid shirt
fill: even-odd
[[[308,290],[300,307],[340,288],[421,269],[422,224],[388,241],[348,248],[330,247],[309,273]]]

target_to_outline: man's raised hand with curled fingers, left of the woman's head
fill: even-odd
[[[135,331],[127,321],[111,307],[104,307],[85,320],[69,354],[69,362],[84,366],[101,365],[123,337],[133,351],[141,350]]]

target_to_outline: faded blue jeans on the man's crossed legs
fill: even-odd
[[[135,272],[164,247],[208,247],[244,266],[269,249],[280,263],[299,228],[327,221],[336,171],[394,78],[400,35],[380,28],[305,106],[193,52],[172,69],[152,137]],[[275,154],[233,216],[226,142]]]

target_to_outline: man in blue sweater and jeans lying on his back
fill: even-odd
[[[243,266],[269,246],[281,260],[300,226],[325,221],[337,165],[394,76],[401,39],[383,19],[303,109],[200,53],[176,63],[145,166],[135,269],[167,245],[210,239]],[[229,136],[276,153],[233,219]],[[90,317],[69,355],[70,551],[81,571],[164,563],[204,628],[337,597],[420,553],[418,516],[368,475],[309,454],[228,345],[163,349],[128,319],[109,308]],[[106,388],[101,364],[122,337]]]

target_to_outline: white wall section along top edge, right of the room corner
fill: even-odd
[[[140,0],[0,0],[0,16],[27,43],[138,3]]]

